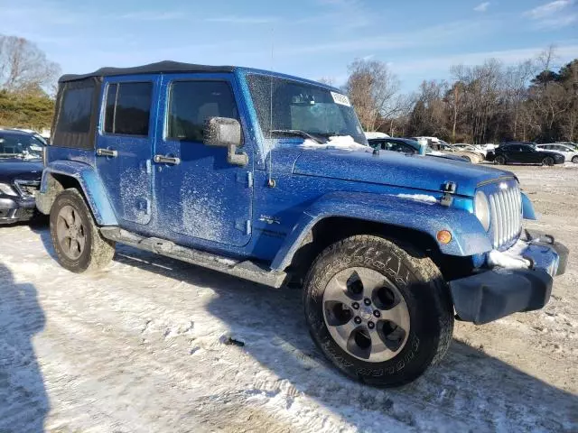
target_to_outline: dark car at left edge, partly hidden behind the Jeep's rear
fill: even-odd
[[[34,134],[0,130],[0,224],[39,215],[34,193],[42,178],[43,146]]]

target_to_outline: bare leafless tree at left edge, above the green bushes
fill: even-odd
[[[52,90],[60,67],[33,42],[0,34],[0,89],[17,93]]]

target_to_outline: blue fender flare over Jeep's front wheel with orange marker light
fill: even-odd
[[[452,241],[449,244],[438,243],[440,251],[448,255],[463,257],[492,249],[480,221],[467,210],[381,194],[331,192],[303,212],[275,255],[272,269],[284,270],[289,266],[312,227],[327,217],[350,217],[410,228],[430,235],[433,240],[440,230],[449,230]]]

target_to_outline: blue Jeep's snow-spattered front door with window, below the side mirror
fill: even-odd
[[[251,237],[253,154],[247,143],[245,167],[227,161],[227,148],[202,143],[203,125],[212,116],[239,119],[238,90],[232,75],[165,76],[159,134],[154,154],[158,224],[169,238],[181,236],[233,246]],[[162,99],[163,99],[162,98]],[[247,134],[245,134],[247,137]]]

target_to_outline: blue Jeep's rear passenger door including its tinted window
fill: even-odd
[[[107,78],[97,141],[98,174],[118,222],[147,225],[152,213],[153,101],[159,78]]]

